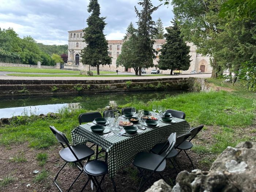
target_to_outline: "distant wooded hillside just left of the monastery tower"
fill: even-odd
[[[42,52],[52,55],[53,53],[61,55],[63,53],[68,54],[68,45],[44,45],[42,43],[37,44]]]

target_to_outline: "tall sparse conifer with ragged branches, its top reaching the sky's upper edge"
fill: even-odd
[[[142,10],[139,12],[135,6],[138,22],[138,41],[136,46],[136,55],[138,58],[139,75],[141,76],[141,69],[153,67],[153,59],[155,56],[155,49],[153,49],[154,41],[151,37],[156,34],[155,22],[152,20],[151,14],[158,9],[154,7],[151,0],[139,0],[139,5]]]

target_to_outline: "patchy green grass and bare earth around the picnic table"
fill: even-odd
[[[152,105],[162,105],[167,109],[184,111],[186,113],[185,120],[191,126],[204,124],[203,131],[193,140],[194,146],[189,151],[189,155],[191,155],[196,168],[208,170],[214,159],[227,146],[234,147],[237,143],[245,140],[256,142],[256,94],[247,91],[242,83],[237,83],[232,87],[230,83],[222,83],[222,79],[208,79],[208,81],[214,83],[215,86],[219,86],[221,90],[185,93],[171,97],[166,95],[165,99],[153,100],[147,103],[133,100],[124,106],[119,106],[119,108],[135,106],[136,109],[151,110]],[[103,109],[101,109],[102,111]],[[35,191],[40,189],[37,186],[39,183],[45,187],[45,191],[46,189],[57,191],[57,188],[52,184],[52,180],[57,172],[56,167],[60,167],[62,161],[58,162],[60,147],[50,132],[49,125],[53,125],[64,132],[71,141],[71,131],[78,125],[78,115],[83,112],[86,111],[62,109],[56,118],[17,117],[12,120],[11,125],[1,127],[0,151],[3,152],[0,153],[0,159],[7,159],[2,161],[0,165],[0,170],[7,170],[0,176],[3,179],[2,187],[9,189],[9,184],[16,179],[26,184],[34,182],[32,188]],[[182,156],[182,153],[180,155],[181,157],[177,157],[178,161],[182,162],[184,166],[189,166],[187,158]],[[41,174],[31,176],[31,174],[25,172],[23,173],[23,176],[26,177],[25,180],[25,178],[20,177],[18,166],[16,166],[17,170],[13,167],[5,168],[8,165],[9,167],[10,165],[33,165],[31,169],[39,169]],[[184,169],[186,168],[184,167]],[[67,171],[73,172],[70,167]],[[74,171],[74,173],[76,172]],[[136,173],[136,169],[132,165],[125,166],[118,172],[117,188],[123,191],[138,189],[140,180]],[[175,173],[172,167],[167,167],[164,176],[169,177],[170,182],[173,182]],[[65,177],[62,178],[65,179]],[[86,180],[86,177],[84,180]],[[78,185],[82,186],[84,180],[78,182],[80,183]],[[103,181],[103,191],[110,191],[111,182],[108,178],[106,180]],[[75,186],[77,187],[76,184]],[[32,188],[30,191],[33,191]],[[76,191],[79,191],[79,189]],[[87,189],[89,190],[89,188]],[[26,191],[26,187],[24,191]]]

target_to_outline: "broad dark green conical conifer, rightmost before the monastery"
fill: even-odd
[[[158,61],[159,69],[170,69],[171,75],[174,69],[188,70],[191,62],[190,48],[184,41],[177,23],[174,20],[172,23],[172,27],[166,28],[166,43],[160,49]]]

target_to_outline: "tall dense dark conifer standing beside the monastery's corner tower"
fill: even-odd
[[[106,26],[106,17],[99,17],[100,7],[98,0],[90,0],[88,12],[92,12],[87,18],[87,27],[84,31],[83,41],[87,46],[82,50],[82,63],[97,67],[99,75],[99,65],[111,64],[111,57],[108,54],[108,42],[103,34]]]

